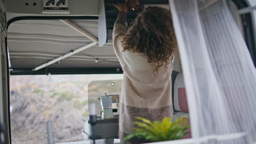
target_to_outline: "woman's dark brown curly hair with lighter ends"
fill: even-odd
[[[138,14],[122,40],[123,51],[141,53],[152,63],[154,73],[172,62],[177,41],[169,10],[147,7]]]

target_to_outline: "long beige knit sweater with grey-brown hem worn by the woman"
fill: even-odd
[[[120,23],[115,23],[113,31],[114,51],[124,70],[123,88],[121,92],[119,138],[130,133],[135,117],[143,117],[151,121],[162,120],[173,116],[172,109],[172,63],[167,70],[161,68],[159,73],[153,73],[152,64],[139,53],[123,51],[121,40],[127,29]],[[147,141],[132,139],[130,143]],[[128,143],[129,143],[128,142]]]

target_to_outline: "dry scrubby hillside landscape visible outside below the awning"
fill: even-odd
[[[10,76],[12,143],[48,143],[46,122],[52,125],[54,143],[83,141],[81,119],[89,116],[88,93],[89,97],[120,94],[120,81],[109,88],[111,81],[102,80],[122,78],[121,74]]]

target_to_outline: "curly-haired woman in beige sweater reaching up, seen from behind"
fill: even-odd
[[[135,117],[157,121],[173,116],[171,73],[177,42],[169,10],[132,5],[131,8],[141,13],[127,31],[127,5],[114,6],[119,13],[113,44],[124,70],[119,117],[119,138],[123,139],[132,130]],[[146,141],[132,139],[129,142]]]

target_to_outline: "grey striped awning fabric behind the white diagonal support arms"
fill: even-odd
[[[97,20],[71,20],[95,37]],[[34,68],[72,50],[92,43],[59,20],[22,20],[8,28],[8,50],[11,68]],[[95,62],[96,58],[98,63]],[[92,46],[48,68],[120,67],[113,46]]]

